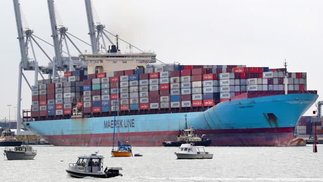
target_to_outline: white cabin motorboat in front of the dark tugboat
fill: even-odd
[[[182,144],[179,151],[175,152],[177,159],[212,159],[213,154],[205,152],[203,146],[193,146],[193,144]]]

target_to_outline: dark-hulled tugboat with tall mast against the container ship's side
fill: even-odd
[[[177,135],[177,140],[175,142],[172,141],[165,141],[162,142],[162,145],[164,147],[179,147],[181,144],[185,143],[193,143],[196,146],[209,146],[212,142],[212,140],[208,138],[203,138],[204,135],[202,135],[202,138],[194,134],[193,126],[188,127],[187,126],[187,115],[185,114],[185,129],[183,129],[184,135],[181,135],[181,132],[179,131],[179,134]]]

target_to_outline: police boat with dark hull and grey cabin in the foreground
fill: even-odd
[[[97,152],[90,156],[80,156],[76,163],[70,163],[66,172],[74,178],[113,178],[122,176],[119,170],[122,168],[108,168],[103,170],[103,156],[97,155]]]

